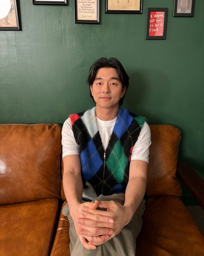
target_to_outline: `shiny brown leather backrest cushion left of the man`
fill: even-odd
[[[58,124],[0,124],[0,204],[60,198]]]

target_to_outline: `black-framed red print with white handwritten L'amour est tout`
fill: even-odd
[[[146,39],[166,39],[168,8],[147,8]]]

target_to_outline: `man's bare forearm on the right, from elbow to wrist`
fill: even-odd
[[[125,202],[129,214],[129,221],[132,220],[132,217],[140,205],[147,186],[147,179],[138,175],[134,178],[129,179],[125,191]]]

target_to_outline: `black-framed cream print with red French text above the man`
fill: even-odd
[[[75,23],[99,24],[99,0],[74,0]]]

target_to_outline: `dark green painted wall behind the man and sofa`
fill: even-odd
[[[174,0],[143,0],[142,14],[105,14],[75,24],[68,6],[20,5],[22,31],[0,31],[0,123],[63,124],[92,107],[86,77],[98,58],[116,57],[130,77],[123,107],[181,131],[179,161],[204,178],[204,1],[193,18],[173,17]],[[166,40],[145,40],[147,7],[167,7]]]

